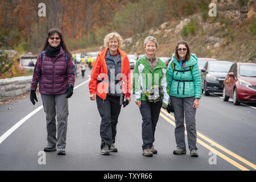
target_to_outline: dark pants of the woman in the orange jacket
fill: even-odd
[[[110,147],[111,143],[115,143],[115,135],[117,134],[118,116],[121,111],[120,97],[107,95],[106,100],[96,96],[98,112],[101,115],[101,148],[107,143]],[[122,102],[121,102],[122,103]]]

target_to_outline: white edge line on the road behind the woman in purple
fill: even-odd
[[[89,75],[88,75],[89,76]],[[89,76],[90,77],[90,76]],[[74,89],[79,88],[80,86],[86,84],[88,81],[90,81],[90,78],[84,82],[82,82],[81,84],[75,86]],[[32,115],[36,114],[39,110],[43,109],[43,105],[40,105],[38,108],[36,108],[35,110],[33,110],[31,113],[29,113],[28,115],[26,115],[24,118],[20,119],[20,121],[18,121],[13,127],[11,127],[9,130],[7,130],[1,137],[0,137],[0,144],[7,138],[10,136],[10,134],[12,134],[16,129],[18,129],[18,127],[20,125],[22,125],[24,122],[27,121],[27,119],[29,119],[30,117],[32,117]]]

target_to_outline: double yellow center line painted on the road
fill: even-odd
[[[171,117],[172,119],[174,119],[174,117],[167,113],[167,111],[163,110],[163,113],[167,114],[169,117]],[[175,127],[175,122],[171,121],[171,119],[169,119],[168,117],[166,117],[166,115],[160,113],[160,116],[163,117],[164,119],[166,119],[166,121],[168,121],[169,123],[171,123],[171,125],[173,125]],[[175,119],[174,119],[175,120]],[[187,134],[187,132],[185,131],[185,134]],[[197,135],[205,140],[207,140],[209,143],[214,144],[214,146],[216,146],[217,148],[220,148],[222,151],[225,151],[226,153],[228,153],[229,155],[232,155],[234,158],[240,160],[241,162],[247,164],[248,166],[252,167],[255,169],[255,165],[253,163],[250,163],[249,161],[247,161],[246,159],[241,158],[240,156],[234,154],[233,152],[229,151],[228,149],[220,146],[220,144],[217,144],[216,142],[213,142],[213,140],[210,140],[209,138],[205,137],[203,134],[200,134],[199,132],[197,132]],[[216,155],[220,156],[222,159],[226,160],[227,162],[229,162],[230,164],[233,164],[234,166],[236,166],[237,168],[241,169],[242,171],[250,171],[249,169],[243,167],[241,164],[235,162],[234,160],[228,158],[228,156],[222,154],[221,152],[215,150],[214,148],[210,147],[208,144],[206,144],[205,142],[203,142],[202,140],[197,138],[197,142],[200,143],[202,146],[204,146],[205,148],[207,148],[210,151],[213,151],[216,153]]]

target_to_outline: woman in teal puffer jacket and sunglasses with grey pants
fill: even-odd
[[[174,154],[186,153],[184,136],[184,114],[187,126],[190,155],[197,157],[196,147],[196,108],[201,98],[201,76],[197,58],[191,55],[188,43],[181,40],[175,48],[175,56],[168,64],[167,74],[171,104],[174,106],[175,140]]]

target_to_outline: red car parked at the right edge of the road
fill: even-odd
[[[223,100],[233,97],[234,105],[240,102],[256,103],[256,64],[234,63],[224,80]]]

